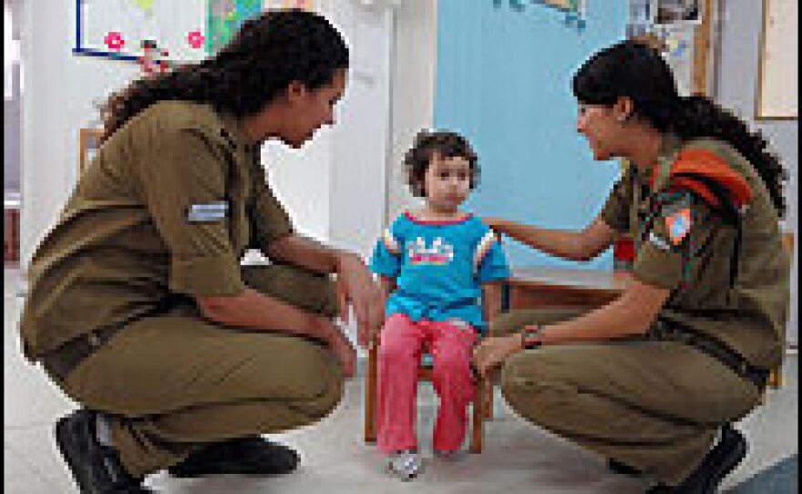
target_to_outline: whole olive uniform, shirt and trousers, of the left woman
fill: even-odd
[[[233,118],[160,102],[99,149],[36,251],[21,319],[26,356],[68,396],[111,414],[136,476],[202,443],[310,424],[342,397],[334,356],[300,337],[215,324],[193,298],[249,286],[334,316],[327,276],[240,265],[247,249],[266,252],[292,232]],[[62,368],[66,348],[108,328],[120,329]]]

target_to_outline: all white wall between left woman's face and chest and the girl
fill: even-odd
[[[367,256],[386,204],[393,15],[353,0],[320,5],[351,48],[337,124],[304,149],[265,146],[262,158],[301,232]]]

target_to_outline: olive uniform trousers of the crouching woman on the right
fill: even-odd
[[[490,334],[580,314],[513,311],[495,319]],[[745,417],[762,394],[693,346],[647,339],[522,351],[505,362],[500,380],[521,417],[669,485],[685,479],[718,428]]]

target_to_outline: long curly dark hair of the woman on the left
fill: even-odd
[[[249,117],[291,82],[318,89],[331,84],[334,72],[348,64],[343,36],[323,16],[303,9],[266,11],[243,22],[216,55],[139,78],[112,93],[101,108],[101,140],[140,111],[168,99],[209,103],[236,118]]]

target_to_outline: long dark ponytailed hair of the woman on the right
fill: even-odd
[[[618,98],[631,98],[639,117],[680,139],[708,137],[729,143],[756,168],[779,216],[785,216],[787,171],[768,151],[763,134],[750,131],[743,120],[709,98],[681,97],[671,67],[652,46],[630,40],[603,49],[577,71],[572,88],[579,101],[591,105],[612,106]]]

